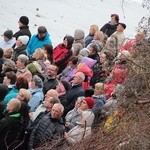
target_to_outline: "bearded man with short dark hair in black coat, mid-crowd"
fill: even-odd
[[[57,72],[58,67],[54,64],[49,65],[49,67],[47,68],[47,76],[45,77],[43,85],[44,94],[46,94],[46,92],[50,89],[55,89],[58,85]]]

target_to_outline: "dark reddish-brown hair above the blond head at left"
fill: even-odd
[[[28,89],[29,88],[28,80],[24,77],[19,77],[19,78],[17,78],[15,86],[18,90],[21,89],[21,88]]]

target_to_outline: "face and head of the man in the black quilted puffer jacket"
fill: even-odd
[[[52,118],[56,118],[59,119],[62,116],[62,112],[60,110],[60,107],[58,107],[57,105],[54,105],[52,107],[52,111],[51,111],[51,117]]]

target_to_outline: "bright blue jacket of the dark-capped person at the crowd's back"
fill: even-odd
[[[27,46],[28,56],[31,56],[37,48],[43,48],[45,44],[52,44],[49,33],[42,39],[39,39],[37,34],[34,34]]]

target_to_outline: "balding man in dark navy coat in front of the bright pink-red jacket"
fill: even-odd
[[[84,89],[82,88],[82,82],[85,80],[85,75],[82,72],[77,72],[72,80],[72,87],[67,92],[67,106],[64,114],[67,114],[75,106],[75,101],[79,96],[84,96]]]

